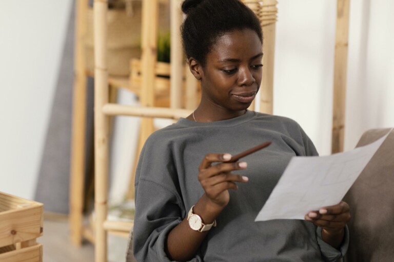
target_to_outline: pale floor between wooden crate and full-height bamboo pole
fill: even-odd
[[[67,220],[44,220],[44,234],[37,239],[43,244],[44,262],[94,261],[94,246],[88,242],[78,248],[69,241]]]

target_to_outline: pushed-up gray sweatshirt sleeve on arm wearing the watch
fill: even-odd
[[[170,146],[149,138],[135,178],[133,252],[137,261],[171,261],[165,252],[168,233],[186,216]],[[201,261],[199,257],[191,261]]]

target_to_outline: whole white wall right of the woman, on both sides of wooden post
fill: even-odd
[[[297,120],[330,154],[336,2],[280,0],[274,114]],[[394,126],[394,2],[350,2],[345,150],[369,128]]]

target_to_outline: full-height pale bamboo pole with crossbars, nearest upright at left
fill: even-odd
[[[94,0],[94,166],[95,166],[95,261],[107,261],[108,103],[107,9],[106,0]]]

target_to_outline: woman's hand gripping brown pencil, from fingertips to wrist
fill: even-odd
[[[226,163],[230,154],[207,154],[199,166],[199,181],[211,204],[224,208],[230,201],[228,189],[237,190],[235,182],[247,182],[248,178],[231,173],[233,170],[245,169],[246,162]],[[218,164],[214,164],[219,162]]]

